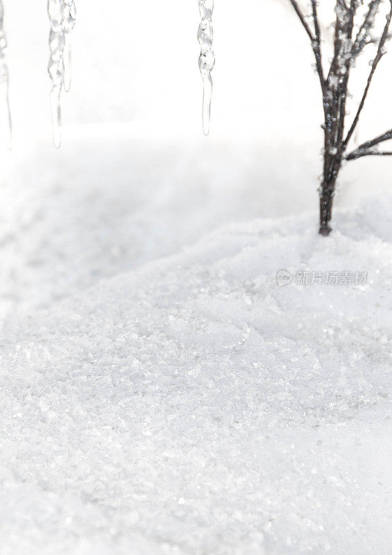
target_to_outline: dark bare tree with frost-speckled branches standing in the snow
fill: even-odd
[[[370,84],[377,66],[384,56],[385,44],[391,34],[389,28],[392,21],[392,0],[385,0],[388,5],[388,15],[382,32],[377,38],[373,38],[373,27],[378,18],[380,6],[384,0],[334,0],[336,19],[334,23],[334,53],[329,68],[323,68],[322,60],[322,38],[321,22],[318,15],[318,3],[320,0],[309,0],[312,12],[304,15],[298,0],[289,0],[296,15],[300,19],[302,27],[312,43],[312,50],[316,59],[316,71],[320,79],[323,92],[324,111],[324,150],[323,150],[323,178],[320,188],[320,233],[327,235],[331,231],[330,221],[332,219],[332,206],[336,182],[341,171],[343,160],[357,160],[364,156],[392,156],[391,151],[379,151],[378,145],[388,139],[392,139],[392,129],[367,141],[346,154],[348,143],[357,127],[361,111],[364,108],[368,96]],[[383,4],[384,5],[384,4]],[[356,17],[359,9],[363,7],[361,25],[357,27]],[[361,10],[362,13],[362,10]],[[312,19],[312,21],[311,21]],[[381,17],[382,19],[382,17]],[[355,31],[355,29],[357,29]],[[374,33],[377,35],[377,33]],[[375,44],[376,54],[371,62],[370,73],[364,92],[357,108],[354,120],[346,135],[345,123],[347,121],[346,102],[348,99],[348,85],[354,61],[364,50],[366,44]],[[324,77],[324,69],[327,75]],[[344,136],[346,135],[346,139]]]

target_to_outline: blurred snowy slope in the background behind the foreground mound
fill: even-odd
[[[281,145],[165,135],[100,125],[60,151],[49,142],[10,154],[0,182],[0,316],[49,307],[223,223],[317,202],[318,160],[312,164],[306,146],[301,163],[291,151],[277,171]],[[259,164],[260,151],[268,164]],[[312,179],[313,194],[299,203],[297,192]]]

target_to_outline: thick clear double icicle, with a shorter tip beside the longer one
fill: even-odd
[[[48,71],[52,81],[51,112],[53,123],[53,143],[61,144],[61,92],[69,91],[71,85],[71,46],[69,33],[76,22],[74,0],[48,0],[48,14],[51,22],[49,34],[50,58]]]

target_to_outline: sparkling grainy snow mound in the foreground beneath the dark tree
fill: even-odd
[[[390,554],[391,209],[232,225],[8,318],[2,554]]]

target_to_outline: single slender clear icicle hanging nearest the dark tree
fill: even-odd
[[[201,15],[201,24],[198,28],[198,42],[200,42],[201,53],[198,59],[201,75],[203,77],[203,131],[204,135],[210,133],[212,78],[211,72],[215,65],[214,51],[212,50],[213,30],[212,13],[214,12],[214,0],[198,0]]]

